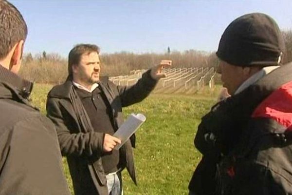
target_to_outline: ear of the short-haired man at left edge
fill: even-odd
[[[23,46],[24,46],[24,41],[20,40],[12,48],[14,51],[12,51],[13,54],[11,56],[11,60],[10,60],[10,64],[9,64],[9,70],[13,73],[16,73],[16,74],[18,73],[20,66],[21,66],[21,59],[22,59],[22,55],[23,55]]]

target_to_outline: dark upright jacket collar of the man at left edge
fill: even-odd
[[[32,82],[25,80],[23,78],[20,78],[18,75],[7,70],[1,65],[0,65],[0,83],[2,83],[2,85],[5,85],[5,88],[7,87],[10,88],[17,95],[25,99],[29,97],[33,89]],[[1,90],[0,96],[5,98],[9,94],[4,93],[4,91]],[[10,96],[12,96],[11,92],[10,92]]]

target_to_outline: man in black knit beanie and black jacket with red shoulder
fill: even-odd
[[[231,22],[217,51],[231,97],[202,117],[202,159],[190,195],[292,195],[292,63],[282,65],[276,22],[253,13]]]

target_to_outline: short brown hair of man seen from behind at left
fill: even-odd
[[[6,0],[0,0],[0,59],[27,36],[26,23],[18,9]]]

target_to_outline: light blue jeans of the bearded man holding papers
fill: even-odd
[[[119,174],[119,175],[118,175]],[[121,173],[106,175],[109,195],[123,195]]]

